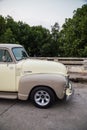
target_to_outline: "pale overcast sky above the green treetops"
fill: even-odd
[[[84,4],[87,0],[0,0],[0,15],[50,29],[55,22],[61,27],[65,18],[72,18],[73,11]]]

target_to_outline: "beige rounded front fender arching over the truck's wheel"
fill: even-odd
[[[60,99],[64,97],[66,78],[58,74],[29,74],[23,76],[19,81],[18,98],[27,100],[31,90],[36,86],[48,86],[54,90]]]

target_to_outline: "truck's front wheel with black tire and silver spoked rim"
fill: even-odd
[[[55,101],[55,95],[50,88],[37,87],[31,93],[31,100],[39,108],[48,108]]]

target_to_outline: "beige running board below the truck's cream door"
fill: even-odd
[[[17,99],[18,98],[18,93],[0,92],[0,98],[3,98],[3,99]]]

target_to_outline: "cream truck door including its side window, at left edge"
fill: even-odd
[[[15,90],[15,63],[8,50],[0,49],[0,91]]]

